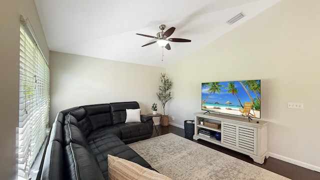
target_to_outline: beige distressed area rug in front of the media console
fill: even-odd
[[[128,144],[172,179],[288,179],[173,133]]]

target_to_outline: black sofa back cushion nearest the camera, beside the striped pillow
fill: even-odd
[[[85,147],[70,143],[65,146],[65,152],[66,179],[104,180],[95,157]]]

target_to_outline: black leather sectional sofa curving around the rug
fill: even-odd
[[[108,179],[107,154],[153,169],[127,143],[149,138],[151,116],[124,123],[132,102],[84,105],[60,111],[52,125],[41,179]],[[155,169],[153,169],[155,170]]]

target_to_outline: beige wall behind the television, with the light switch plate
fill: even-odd
[[[320,171],[318,9],[318,0],[282,0],[168,67],[171,123],[182,126],[200,111],[201,82],[261,79],[270,156]]]

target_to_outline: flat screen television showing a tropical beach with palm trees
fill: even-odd
[[[260,80],[201,83],[201,110],[260,118]]]

